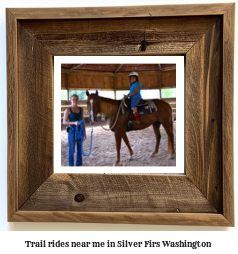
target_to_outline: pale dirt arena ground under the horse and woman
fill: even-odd
[[[103,125],[108,128],[108,125]],[[84,153],[88,154],[90,148],[91,125],[86,125],[87,139],[84,141]],[[124,141],[121,145],[121,162],[119,166],[176,166],[176,160],[170,159],[167,149],[167,134],[160,127],[161,141],[159,153],[155,157],[150,154],[155,148],[155,134],[153,127],[140,131],[127,132],[131,148],[134,152],[133,160],[129,161],[129,151]],[[174,122],[174,141],[176,151],[176,121]],[[68,166],[68,141],[65,128],[61,131],[61,165]],[[116,161],[116,142],[112,131],[105,131],[99,123],[93,125],[92,152],[90,156],[83,157],[83,166],[113,166]]]

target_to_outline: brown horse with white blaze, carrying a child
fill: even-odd
[[[98,95],[98,91],[96,91],[95,94],[89,94],[89,92],[86,91],[86,95],[88,96],[87,107],[88,112],[90,113],[91,121],[94,122],[94,116],[97,116],[98,113],[102,113],[105,118],[109,120],[110,129],[115,133],[117,160],[114,165],[117,165],[120,162],[122,139],[129,149],[129,160],[132,160],[133,151],[126,135],[129,116],[120,113],[119,108],[121,101],[103,98]],[[132,129],[142,130],[149,127],[151,124],[153,125],[156,136],[156,145],[151,156],[155,156],[159,152],[159,144],[161,139],[160,125],[162,124],[168,135],[168,151],[170,158],[174,158],[175,151],[171,106],[163,100],[154,99],[153,102],[157,106],[157,111],[149,115],[140,115],[140,124],[133,123]]]

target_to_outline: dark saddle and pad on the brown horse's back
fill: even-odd
[[[137,110],[140,115],[149,115],[155,111],[157,111],[157,106],[155,105],[153,100],[144,100],[141,99],[140,102],[137,104]],[[131,100],[126,98],[124,103],[121,107],[121,113],[123,115],[131,115]]]

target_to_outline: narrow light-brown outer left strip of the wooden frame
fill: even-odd
[[[18,75],[17,21],[6,11],[7,32],[7,180],[8,220],[18,210]]]

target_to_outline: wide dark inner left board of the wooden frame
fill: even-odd
[[[53,58],[18,24],[18,205],[53,173]],[[42,170],[44,168],[44,170]]]

